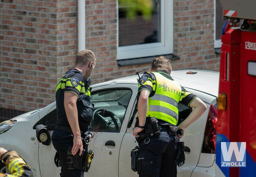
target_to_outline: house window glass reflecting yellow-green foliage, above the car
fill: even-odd
[[[161,42],[160,0],[118,0],[119,47]]]

